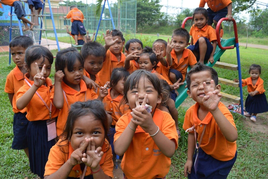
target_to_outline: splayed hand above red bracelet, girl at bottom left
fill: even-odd
[[[88,145],[81,161],[91,169],[95,169],[99,167],[103,151],[101,151],[101,147],[96,148],[93,137],[90,139],[85,138],[85,140],[88,141]]]

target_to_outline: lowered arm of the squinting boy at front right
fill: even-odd
[[[195,134],[188,133],[188,150],[187,150],[187,161],[184,165],[184,177],[188,176],[188,173],[191,173],[193,165],[193,155],[195,152],[196,142]]]

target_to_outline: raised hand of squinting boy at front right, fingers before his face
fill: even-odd
[[[215,89],[215,84],[213,80],[210,81],[210,89],[208,89],[206,82],[203,82],[203,87],[206,95],[202,99],[203,105],[209,111],[215,111],[218,108],[218,104],[220,99],[222,98],[222,94],[219,93],[218,89]]]

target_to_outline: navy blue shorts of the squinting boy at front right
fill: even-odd
[[[233,159],[228,161],[219,161],[210,155],[206,154],[202,148],[198,150],[199,162],[197,172],[194,169],[194,161],[196,151],[193,156],[193,165],[191,174],[188,174],[189,179],[225,179],[231,171],[233,164],[237,158],[237,152]]]

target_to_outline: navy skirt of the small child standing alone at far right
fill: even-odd
[[[245,101],[245,109],[248,113],[263,113],[268,111],[268,103],[264,93],[250,96]]]

